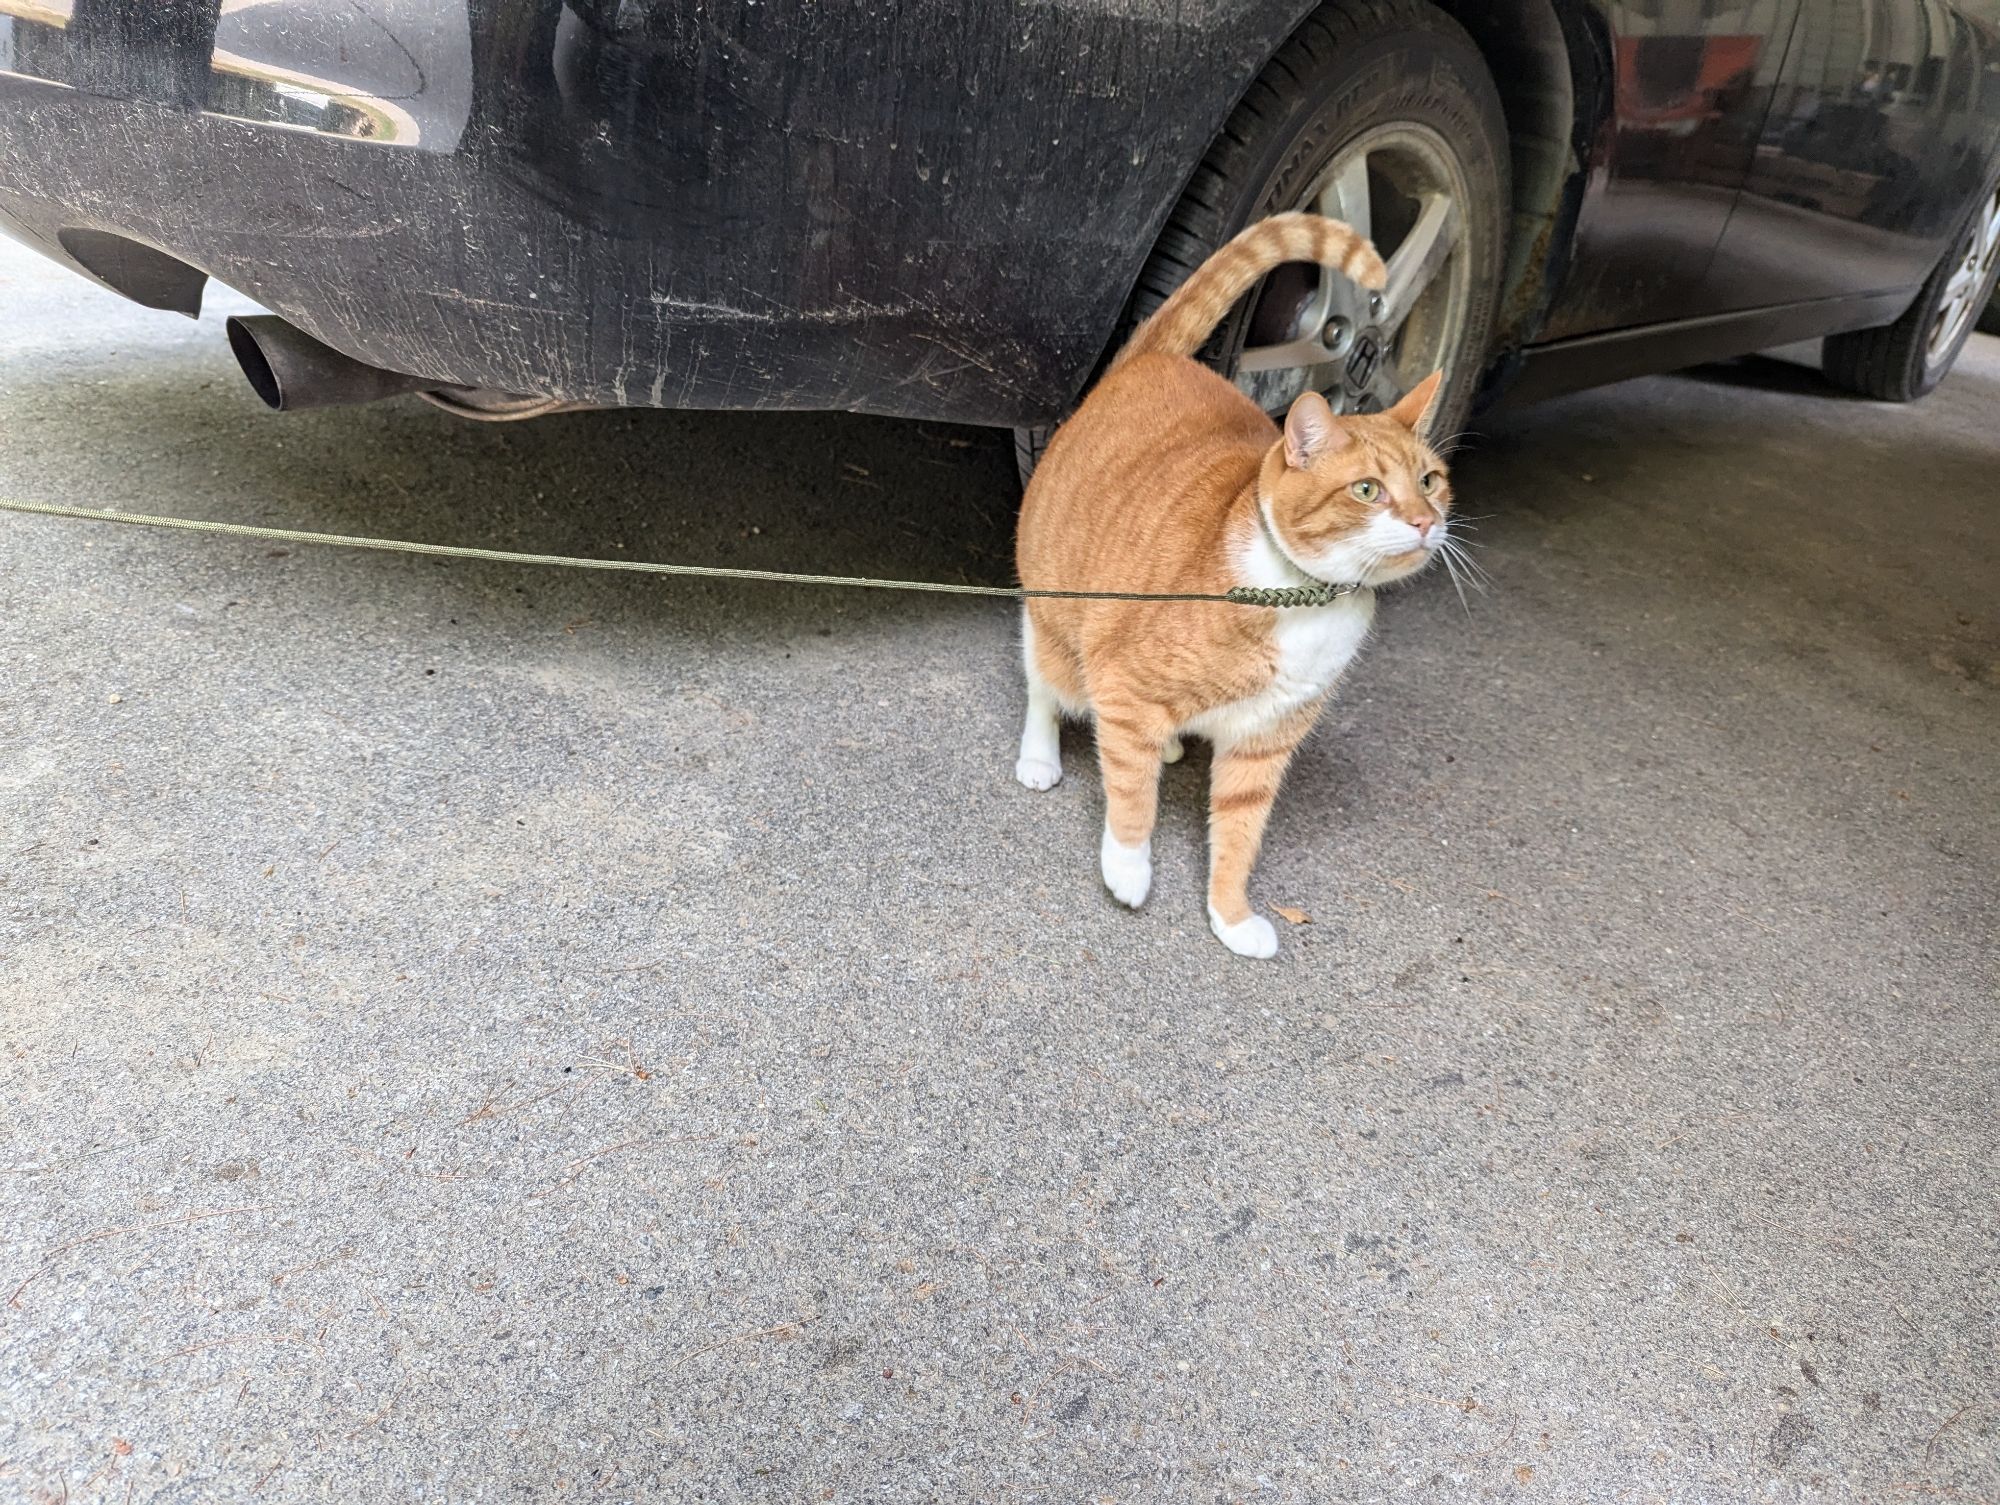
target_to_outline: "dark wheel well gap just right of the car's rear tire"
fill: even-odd
[[[1596,90],[1552,0],[1434,0],[1472,36],[1500,90],[1512,158],[1514,220],[1494,352],[1534,338],[1564,266],[1584,152],[1578,126]],[[1588,124],[1584,126],[1588,132]]]

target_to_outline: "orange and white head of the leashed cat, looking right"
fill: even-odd
[[[1388,584],[1416,574],[1446,544],[1452,478],[1424,440],[1444,372],[1386,412],[1336,414],[1300,396],[1258,478],[1258,504],[1278,546],[1306,574],[1336,584]]]

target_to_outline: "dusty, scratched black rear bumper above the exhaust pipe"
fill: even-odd
[[[76,16],[92,2],[126,28],[94,72],[80,42],[56,50],[80,20],[0,4],[0,30],[58,60],[30,76],[0,48],[0,218],[78,270],[64,230],[124,236],[456,386],[990,424],[1074,400],[1230,74],[1266,44],[1084,0],[1032,36],[956,0],[838,24],[746,12],[784,12],[776,42],[710,36],[680,6],[620,30],[602,18],[630,6],[384,0],[368,14],[408,14],[408,64],[378,48],[348,86],[328,74],[362,66],[360,36],[304,62],[300,38],[360,8],[230,8],[182,56],[130,40],[166,6]],[[262,52],[230,32],[260,16],[278,28]]]

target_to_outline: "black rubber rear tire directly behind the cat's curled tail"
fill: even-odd
[[[1306,18],[1258,74],[1188,180],[1140,270],[1114,348],[1246,224],[1292,208],[1324,206],[1318,186],[1342,162],[1352,166],[1356,152],[1364,156],[1366,198],[1374,206],[1368,228],[1386,260],[1394,260],[1396,244],[1386,242],[1384,232],[1400,230],[1408,238],[1422,224],[1414,206],[1442,194],[1456,208],[1458,240],[1446,272],[1440,272],[1452,292],[1448,338],[1440,342],[1442,314],[1432,310],[1426,314],[1424,350],[1414,352],[1442,350],[1438,364],[1446,382],[1432,408],[1430,432],[1440,440],[1456,434],[1472,406],[1492,338],[1506,254],[1508,136],[1500,94],[1480,50],[1458,22],[1424,0],[1328,0]],[[1436,184],[1428,186],[1426,172],[1436,176]],[[1352,214],[1340,218],[1354,222]],[[1252,328],[1272,318],[1270,300],[1280,294],[1280,274],[1296,278],[1310,276],[1310,270],[1280,268],[1242,298],[1202,348],[1206,364],[1226,376],[1238,374]],[[1426,288],[1426,298],[1432,296]],[[1288,308],[1290,302],[1278,312],[1280,320]],[[1396,332],[1392,354],[1412,354],[1412,322],[1414,314]],[[1366,334],[1358,330],[1354,344]],[[1314,376],[1324,378],[1328,368],[1296,368],[1298,390],[1306,380],[1326,390]],[[1428,374],[1428,360],[1426,370],[1396,368],[1404,390]],[[1252,396],[1272,412],[1282,412],[1296,396],[1262,378],[1240,384],[1256,386]],[[1048,432],[1016,430],[1014,454],[1024,484]]]

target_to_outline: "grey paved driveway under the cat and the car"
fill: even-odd
[[[1008,578],[986,432],[0,298],[0,494]],[[0,1497],[1994,1499],[1996,412],[1486,422],[1274,963],[1204,752],[1138,915],[1014,785],[1000,602],[0,516]]]

